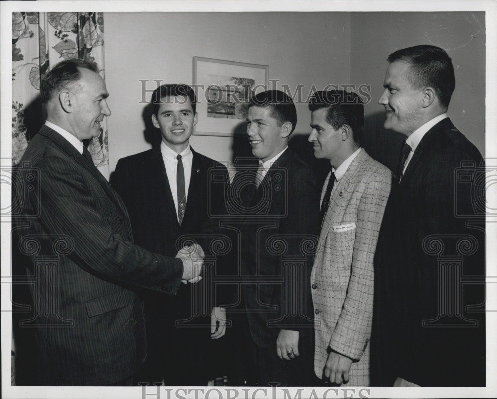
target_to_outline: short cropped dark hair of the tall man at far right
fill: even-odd
[[[440,104],[448,108],[456,87],[456,78],[452,60],[445,50],[422,44],[394,51],[388,56],[387,61],[411,64],[409,75],[411,86],[416,89],[433,87]]]

